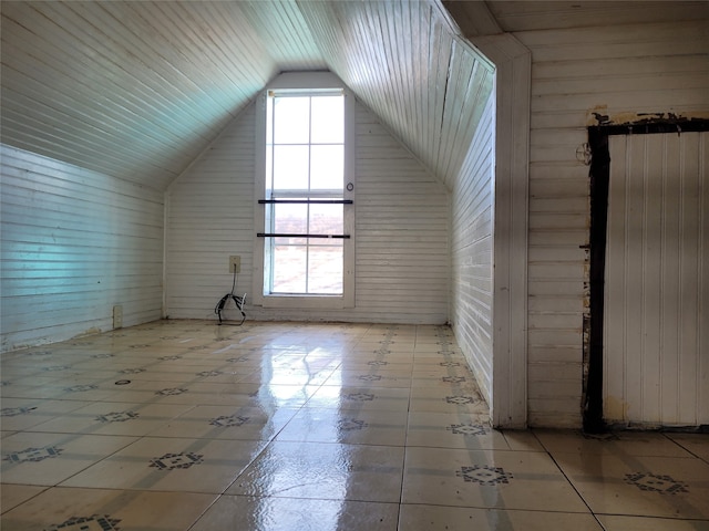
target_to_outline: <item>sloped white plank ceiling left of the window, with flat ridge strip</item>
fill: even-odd
[[[2,142],[164,189],[281,70],[292,1],[2,2]]]

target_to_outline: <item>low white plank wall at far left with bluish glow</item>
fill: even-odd
[[[2,351],[161,317],[163,194],[0,145]]]

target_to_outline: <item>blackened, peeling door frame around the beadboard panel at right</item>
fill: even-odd
[[[602,122],[603,116],[597,116]],[[590,227],[589,248],[589,310],[587,341],[584,344],[584,431],[603,433],[607,429],[603,417],[603,336],[604,296],[606,274],[606,230],[608,226],[608,188],[610,184],[612,135],[646,135],[658,133],[700,133],[709,131],[706,118],[651,118],[634,123],[602,123],[588,127],[590,160]]]

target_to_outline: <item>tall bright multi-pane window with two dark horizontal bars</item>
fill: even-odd
[[[332,77],[271,86],[261,100],[255,302],[264,305],[353,301],[352,105]]]

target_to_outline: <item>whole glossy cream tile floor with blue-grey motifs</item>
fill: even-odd
[[[1,391],[3,530],[709,530],[709,436],[493,430],[444,326],[156,322]]]

